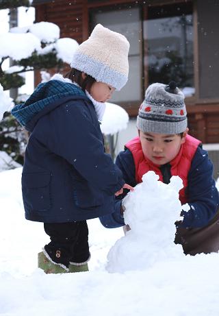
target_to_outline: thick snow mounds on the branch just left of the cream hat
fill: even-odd
[[[50,53],[55,49],[57,58],[70,64],[78,43],[73,38],[60,38],[60,27],[50,22],[39,22],[26,27],[12,27],[10,32],[0,34],[1,58],[21,60],[29,58],[34,51],[40,55]],[[41,47],[41,42],[51,43]],[[16,49],[14,49],[16,47]]]

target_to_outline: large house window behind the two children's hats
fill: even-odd
[[[101,23],[130,42],[129,80],[114,93],[112,102],[137,110],[149,84],[168,84],[170,80],[177,82],[186,96],[194,95],[192,10],[189,1],[166,5],[136,1],[90,10],[90,30]]]

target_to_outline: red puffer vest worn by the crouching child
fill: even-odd
[[[194,154],[196,153],[197,147],[200,143],[201,141],[198,141],[198,139],[187,135],[185,138],[185,143],[181,145],[179,153],[173,160],[170,161],[171,175],[179,175],[179,177],[183,180],[183,189],[179,191],[179,199],[181,204],[185,204],[187,202],[185,189],[188,186],[188,173],[190,171],[192,158],[194,157]],[[142,175],[150,170],[155,171],[155,173],[159,175],[159,180],[163,181],[162,172],[160,171],[159,166],[153,164],[153,162],[144,157],[139,137],[133,138],[125,145],[125,147],[131,151],[133,156],[136,167],[137,183],[142,182]]]

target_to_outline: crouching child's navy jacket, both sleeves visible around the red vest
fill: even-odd
[[[136,167],[133,156],[129,149],[121,151],[116,158],[116,165],[123,172],[125,183],[136,186]],[[164,165],[166,168],[168,166]],[[166,170],[164,173],[170,174]],[[182,212],[184,219],[181,227],[198,228],[206,226],[209,221],[216,215],[219,204],[218,190],[212,178],[213,165],[208,158],[207,151],[198,147],[192,160],[192,165],[188,173],[188,204],[191,210]],[[168,177],[164,177],[168,178]],[[169,183],[169,178],[164,181]],[[127,192],[125,193],[127,194]],[[101,223],[106,228],[118,228],[124,226],[123,217],[120,214],[121,199],[125,196],[119,195],[116,198],[115,212],[111,215],[100,217]]]

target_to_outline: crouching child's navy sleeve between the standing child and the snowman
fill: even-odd
[[[123,179],[125,183],[136,186],[136,168],[133,161],[133,156],[129,149],[125,149],[125,151],[121,151],[116,158],[116,165],[123,173]],[[116,197],[114,212],[110,215],[105,215],[100,217],[100,221],[105,228],[118,228],[120,226],[124,226],[124,219],[121,215],[120,208],[122,204],[122,199],[127,195],[129,190],[124,190],[122,195]]]

